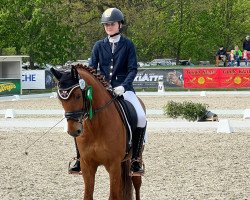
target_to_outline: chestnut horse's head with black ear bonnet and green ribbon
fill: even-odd
[[[80,78],[76,67],[71,71],[61,72],[51,68],[52,74],[58,80],[58,98],[65,111],[68,123],[68,134],[77,137],[81,134],[82,121],[89,117],[92,100],[92,88]]]

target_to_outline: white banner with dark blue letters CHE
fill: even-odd
[[[22,71],[22,89],[45,89],[45,70]]]

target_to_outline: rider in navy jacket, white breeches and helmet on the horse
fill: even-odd
[[[132,137],[131,171],[141,175],[141,153],[146,131],[146,115],[138,100],[133,80],[137,74],[136,50],[132,41],[121,35],[124,25],[124,15],[117,8],[108,8],[101,17],[101,23],[107,37],[95,43],[89,66],[97,69],[110,83],[118,96],[129,101],[136,110],[138,123]]]

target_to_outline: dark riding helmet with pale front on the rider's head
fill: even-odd
[[[112,22],[121,22],[124,23],[124,15],[117,8],[108,8],[104,11],[101,18],[101,23],[112,23]]]

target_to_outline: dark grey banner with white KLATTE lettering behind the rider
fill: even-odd
[[[133,85],[135,88],[158,88],[159,81],[163,81],[165,88],[183,87],[183,69],[139,69]]]

